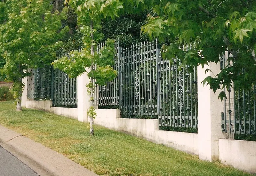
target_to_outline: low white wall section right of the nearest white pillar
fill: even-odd
[[[237,169],[256,173],[256,141],[219,140],[220,161]]]

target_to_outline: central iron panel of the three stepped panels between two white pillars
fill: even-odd
[[[157,42],[121,49],[119,58],[120,111],[122,115],[157,115]]]

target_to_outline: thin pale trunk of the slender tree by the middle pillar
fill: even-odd
[[[93,28],[93,23],[92,20],[90,21],[90,29],[91,29],[91,38],[93,41],[93,33],[92,33],[92,28]],[[93,55],[94,52],[94,46],[91,44],[91,55]],[[91,65],[91,70],[93,70],[93,63]],[[93,85],[93,78],[91,77],[90,84]],[[90,106],[93,106],[93,86],[91,86],[91,93],[90,93]],[[93,130],[93,116],[90,116],[90,135],[94,135],[94,130]]]

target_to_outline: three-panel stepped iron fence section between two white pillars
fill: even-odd
[[[195,67],[182,67],[179,58],[164,59],[157,41],[115,47],[118,76],[96,87],[95,105],[119,105],[122,117],[156,118],[159,126],[198,128]]]

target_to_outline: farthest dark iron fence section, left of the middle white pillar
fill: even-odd
[[[51,66],[29,71],[28,99],[52,100],[52,106],[77,107],[77,78],[69,78],[65,72]]]

